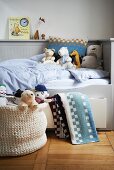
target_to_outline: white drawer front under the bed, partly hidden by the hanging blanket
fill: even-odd
[[[93,118],[96,128],[106,128],[106,115],[107,115],[107,99],[106,98],[89,98],[91,109],[93,112]],[[54,128],[53,116],[49,104],[43,110],[47,117],[48,128]]]

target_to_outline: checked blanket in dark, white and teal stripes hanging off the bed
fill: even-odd
[[[85,94],[59,93],[53,99],[50,107],[58,137],[70,137],[72,144],[99,141],[89,99]]]

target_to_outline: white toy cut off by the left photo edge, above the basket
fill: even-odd
[[[4,84],[0,84],[0,106],[5,106],[6,104],[6,86]]]

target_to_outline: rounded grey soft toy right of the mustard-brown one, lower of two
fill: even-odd
[[[83,57],[81,67],[96,69],[99,68],[96,55],[87,55]]]

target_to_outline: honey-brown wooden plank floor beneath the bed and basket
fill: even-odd
[[[114,170],[114,132],[99,132],[100,142],[72,145],[48,133],[40,150],[21,157],[0,158],[0,170]]]

